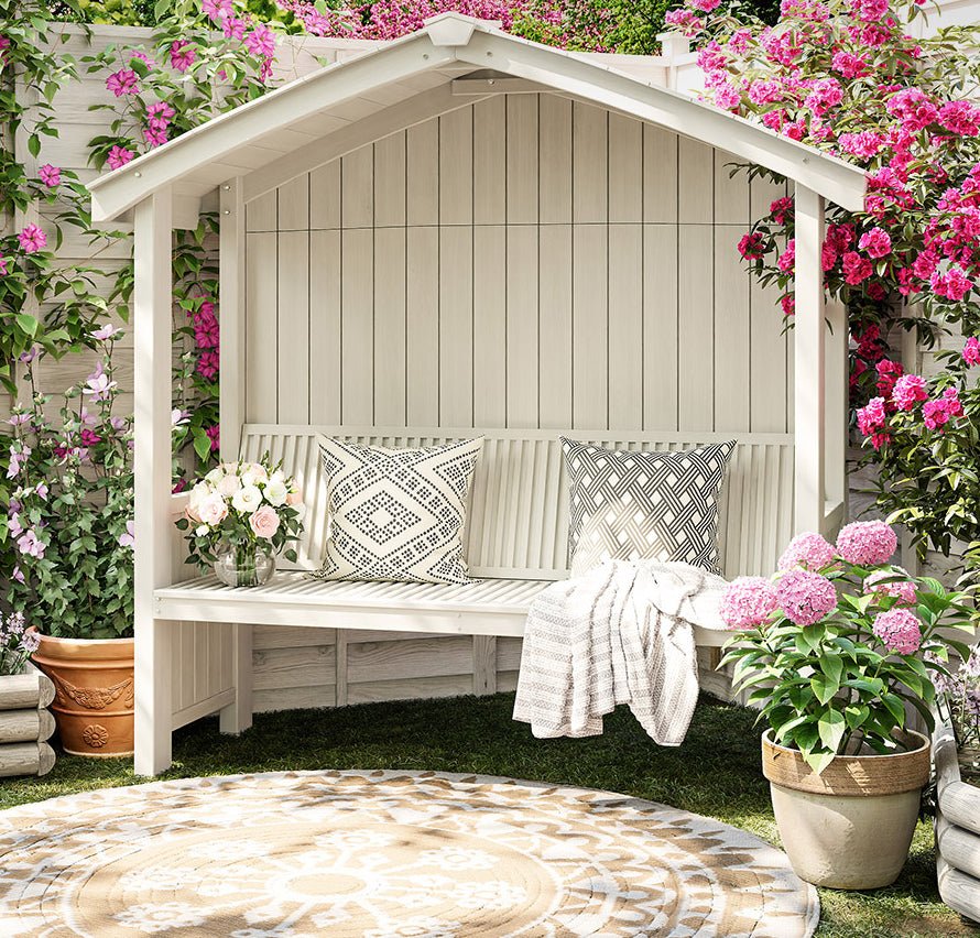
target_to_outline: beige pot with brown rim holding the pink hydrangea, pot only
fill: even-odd
[[[796,874],[835,890],[893,883],[908,855],[922,788],[929,781],[929,740],[910,732],[908,752],[839,755],[817,775],[793,749],[762,738],[783,847]]]

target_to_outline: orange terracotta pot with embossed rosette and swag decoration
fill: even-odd
[[[54,683],[51,709],[65,752],[132,754],[133,647],[132,639],[41,635],[33,661]]]

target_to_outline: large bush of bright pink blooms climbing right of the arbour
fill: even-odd
[[[774,28],[687,0],[668,22],[697,39],[706,97],[868,172],[861,211],[831,206],[823,246],[827,290],[849,307],[851,382],[879,504],[923,548],[966,541],[980,567],[974,421],[980,406],[976,302],[980,285],[980,61],[965,53],[980,26],[908,35],[924,0],[783,0]],[[752,273],[792,317],[791,198],[776,199],[742,239]],[[897,323],[926,340],[957,326],[966,352],[935,381],[889,357]]]

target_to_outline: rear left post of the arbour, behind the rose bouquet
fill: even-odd
[[[242,181],[222,183],[220,195],[220,274],[218,303],[221,316],[221,377],[219,407],[221,459],[233,462],[241,449],[244,423],[244,200]],[[252,626],[231,625],[228,654],[235,700],[219,712],[222,733],[240,733],[252,726]]]

